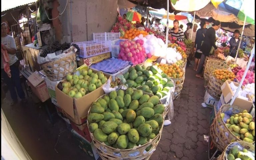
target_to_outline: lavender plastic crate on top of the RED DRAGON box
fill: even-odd
[[[88,58],[99,54],[111,52],[111,41],[86,41],[75,43],[80,48],[79,57]]]

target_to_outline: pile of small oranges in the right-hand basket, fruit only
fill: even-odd
[[[216,69],[212,72],[213,76],[225,82],[226,80],[233,81],[235,74],[227,69]]]

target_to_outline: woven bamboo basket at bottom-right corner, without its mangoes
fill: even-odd
[[[230,143],[225,150],[222,152],[222,154],[218,157],[217,160],[228,160],[226,153],[229,153],[229,150],[232,149],[234,146],[240,145],[241,147],[247,149],[248,151],[255,152],[255,146],[252,143],[244,142],[244,141],[236,141]]]

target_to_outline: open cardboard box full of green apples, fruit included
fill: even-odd
[[[92,102],[104,94],[102,85],[111,77],[88,67],[78,68],[55,86],[58,105],[77,125],[83,124]]]

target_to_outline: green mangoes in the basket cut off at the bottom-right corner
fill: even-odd
[[[238,146],[234,146],[229,150],[229,154],[226,156],[228,160],[254,160],[254,156],[247,149],[240,151]]]

